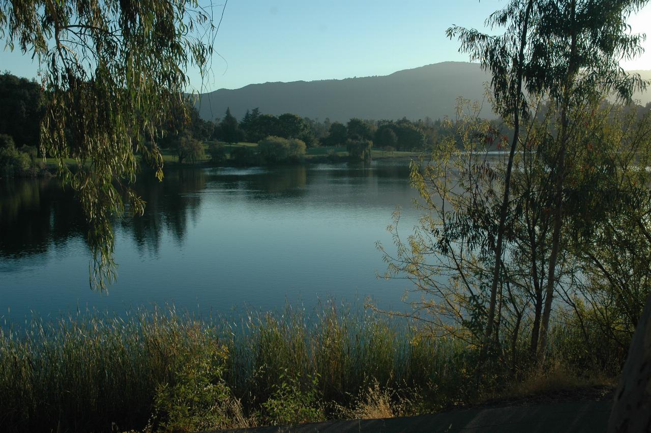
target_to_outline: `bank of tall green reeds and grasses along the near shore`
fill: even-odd
[[[561,385],[611,372],[577,362],[586,348],[573,329],[559,324],[553,335],[546,370],[572,378]],[[410,415],[508,395],[523,380],[546,386],[521,363],[493,367],[475,389],[476,359],[460,338],[333,304],[235,322],[173,309],[33,320],[1,331],[0,429],[191,431]]]

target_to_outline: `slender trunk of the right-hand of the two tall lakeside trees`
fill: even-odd
[[[572,1],[572,19],[575,19],[576,2]],[[568,76],[566,77],[563,100],[561,106],[561,148],[559,149],[559,158],[557,161],[556,173],[556,191],[554,199],[554,225],[551,236],[551,253],[549,254],[549,268],[547,272],[547,290],[545,294],[545,307],[542,312],[542,324],[540,327],[540,345],[538,346],[538,363],[545,361],[547,348],[547,335],[549,333],[549,318],[551,316],[551,303],[554,298],[554,288],[556,286],[556,264],[561,249],[561,228],[562,228],[562,204],[563,204],[563,184],[565,181],[565,155],[567,153],[568,142],[568,110],[570,109],[570,92],[572,81],[575,75],[575,56],[576,56],[576,35],[572,33],[572,42],[570,48],[570,64],[568,66]]]

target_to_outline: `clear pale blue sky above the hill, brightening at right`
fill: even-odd
[[[223,1],[213,0],[219,20]],[[205,3],[205,2],[204,2]],[[267,81],[312,81],[388,75],[443,61],[468,61],[451,25],[483,28],[502,0],[228,0],[214,48],[211,74],[189,71],[199,91],[238,89]],[[651,70],[651,4],[630,19],[648,32],[646,52],[622,63]],[[4,47],[3,47],[4,48]],[[35,77],[38,67],[20,51],[0,48],[0,70]]]

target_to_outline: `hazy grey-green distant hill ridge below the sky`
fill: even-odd
[[[651,71],[635,71],[651,79]],[[389,76],[251,84],[242,89],[220,89],[203,94],[197,102],[204,119],[223,117],[227,107],[242,119],[245,111],[296,113],[311,119],[411,120],[454,115],[456,98],[483,100],[488,75],[477,63],[443,62],[395,72]],[[651,92],[636,95],[649,102]],[[483,117],[494,117],[484,103]]]

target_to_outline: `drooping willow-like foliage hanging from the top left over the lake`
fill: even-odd
[[[197,0],[0,0],[0,36],[39,63],[41,147],[83,204],[92,288],[115,279],[111,219],[143,213],[141,158],[163,178],[157,133],[187,119],[187,69],[204,76],[216,31]]]

